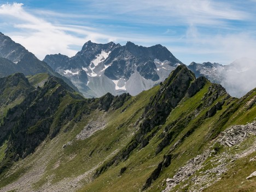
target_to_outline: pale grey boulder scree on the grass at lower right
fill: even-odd
[[[177,185],[175,190],[183,190],[189,187],[190,191],[203,191],[210,188],[211,185],[222,179],[224,173],[228,171],[230,166],[234,166],[236,160],[255,153],[255,136],[256,121],[246,125],[233,125],[229,127],[220,133],[216,141],[211,143],[210,149],[190,159],[185,166],[178,169],[173,178],[167,178],[166,189],[162,192],[172,191]],[[248,137],[253,137],[254,142],[246,150],[236,152],[235,154],[230,153],[231,147],[233,150],[238,150],[241,143],[248,139]],[[224,151],[220,152],[222,148]],[[209,159],[210,161],[207,161]],[[251,161],[254,160],[256,159],[251,159]],[[209,165],[212,167],[207,168]],[[244,178],[244,180],[248,178]]]

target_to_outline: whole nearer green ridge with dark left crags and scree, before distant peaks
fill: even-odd
[[[256,89],[234,98],[184,65],[137,96],[46,79],[0,126],[0,191],[254,191]]]

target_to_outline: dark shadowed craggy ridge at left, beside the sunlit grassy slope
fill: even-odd
[[[5,97],[7,100],[3,101],[5,105],[14,104],[19,97],[23,96],[24,98],[20,99],[21,103],[16,102],[16,106],[8,109],[0,126],[0,143],[3,144],[8,140],[0,172],[13,160],[25,158],[33,152],[47,134],[50,134],[51,137],[56,135],[59,126],[56,124],[54,129],[50,129],[50,125],[53,123],[52,116],[60,105],[61,98],[69,95],[82,99],[62,79],[56,77],[49,78],[42,88],[37,86],[37,89],[33,88],[24,74],[17,73],[3,78],[3,80],[3,96],[7,90],[12,91],[9,91],[11,97],[10,95]],[[9,101],[12,98],[14,101]],[[24,143],[24,141],[26,142]]]

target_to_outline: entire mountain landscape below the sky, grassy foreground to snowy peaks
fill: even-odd
[[[253,60],[87,42],[40,61],[0,37],[1,192],[255,191],[256,88],[218,84],[240,88]]]

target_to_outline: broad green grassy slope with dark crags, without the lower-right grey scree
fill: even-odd
[[[28,77],[33,86],[45,78]],[[206,150],[218,149],[213,156],[217,158],[247,150],[254,142],[250,136],[238,148],[212,146],[219,133],[231,125],[255,120],[256,90],[240,99],[233,98],[222,86],[205,78],[195,79],[184,66],[173,71],[164,83],[134,97],[107,94],[88,100],[62,83],[49,86],[47,81],[40,90],[26,110],[37,106],[42,98],[59,95],[59,100],[57,104],[49,103],[51,115],[25,126],[25,130],[28,135],[37,131],[38,134],[45,128],[40,125],[50,122],[49,131],[31,154],[1,174],[3,189],[26,178],[29,187],[21,182],[8,189],[161,191],[166,188],[166,178],[172,178],[179,167]],[[3,149],[7,146],[5,142],[0,148],[3,160]],[[255,180],[244,181],[248,184],[245,185],[239,179],[247,177],[254,166],[255,161],[250,161],[253,155],[255,152],[229,164],[235,166],[236,173],[228,170],[206,191],[222,191],[222,187],[235,190],[238,185],[242,191],[252,191]],[[205,171],[214,166],[211,158],[203,164]],[[190,177],[193,176],[172,190],[193,189],[195,184]],[[236,185],[231,187],[232,182]]]

